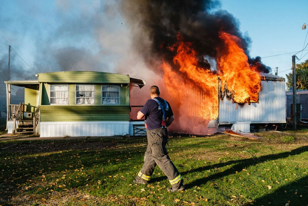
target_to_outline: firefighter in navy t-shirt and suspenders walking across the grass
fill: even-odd
[[[137,119],[145,116],[147,128],[148,147],[144,154],[142,169],[133,180],[135,184],[147,184],[153,174],[156,165],[163,171],[171,183],[169,192],[182,191],[185,189],[182,176],[171,162],[166,144],[168,141],[167,127],[173,122],[174,116],[170,104],[160,98],[158,86],[151,86],[149,99],[144,107],[138,112]]]

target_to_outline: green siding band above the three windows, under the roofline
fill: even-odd
[[[124,74],[112,74],[106,72],[65,71],[39,73],[39,82],[129,84],[129,76]]]

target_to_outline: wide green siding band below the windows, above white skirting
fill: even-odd
[[[41,122],[128,121],[128,106],[43,105]]]

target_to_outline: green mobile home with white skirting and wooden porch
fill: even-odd
[[[7,92],[8,105],[11,105],[7,117],[8,133],[12,130],[30,132],[28,129],[39,133],[40,137],[132,133],[129,85],[141,88],[145,85],[143,80],[92,71],[50,72],[36,76],[38,80],[6,82],[8,91],[10,85],[25,87],[25,104],[21,106],[11,105],[10,92]],[[30,118],[21,117],[25,114]],[[16,122],[16,129],[13,122]],[[26,125],[33,125],[33,128],[26,128]]]

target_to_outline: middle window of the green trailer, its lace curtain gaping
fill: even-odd
[[[94,85],[76,85],[76,104],[94,104]]]

